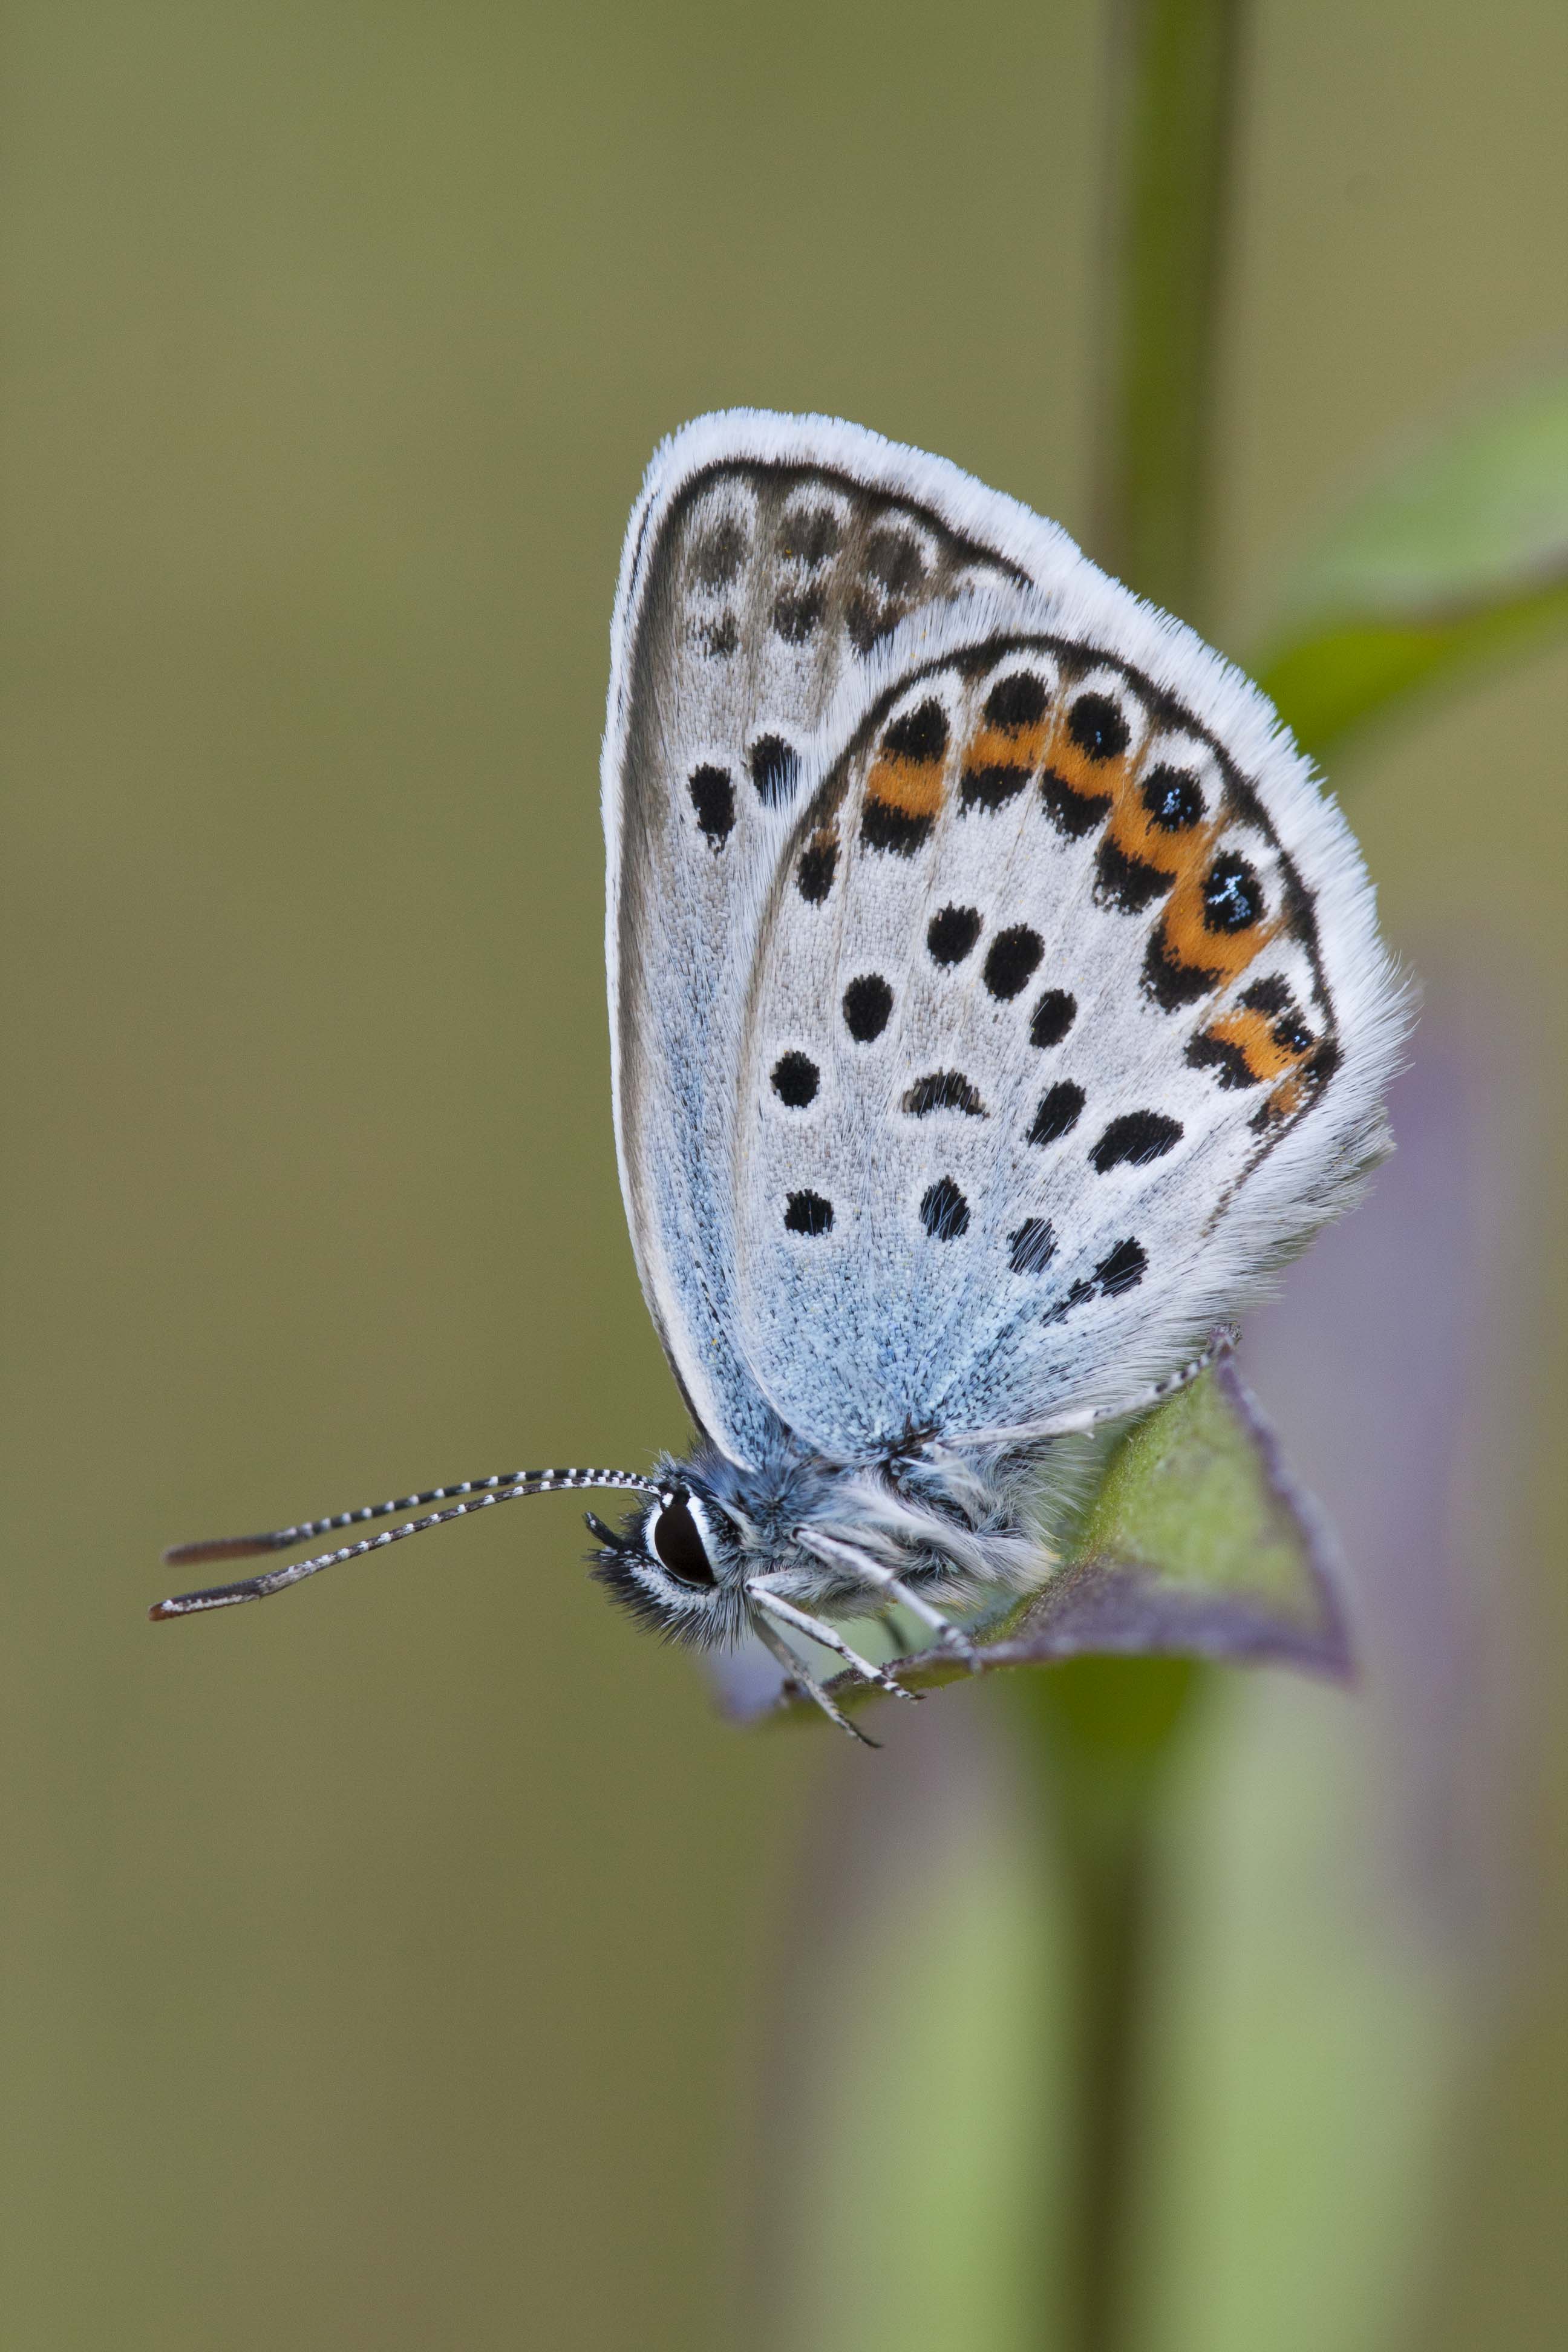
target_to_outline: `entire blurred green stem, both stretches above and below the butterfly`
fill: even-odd
[[[1199,626],[1241,26],[1244,0],[1112,0],[1091,553]],[[1079,1658],[1027,1682],[1072,1966],[1070,2190],[1041,2312],[1070,2352],[1128,2352],[1159,1790],[1194,1668]]]

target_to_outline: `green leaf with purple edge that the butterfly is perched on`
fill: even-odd
[[[1345,1682],[1340,1583],[1321,1510],[1222,1362],[1119,1439],[1077,1538],[1046,1583],[980,1637],[976,1672],[1164,1656],[1279,1663]],[[966,1668],[926,1649],[889,1672],[929,1689]],[[872,1696],[849,1675],[830,1689],[839,1705]],[[797,1705],[771,1698],[764,1712]]]

